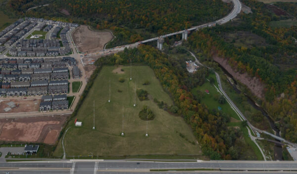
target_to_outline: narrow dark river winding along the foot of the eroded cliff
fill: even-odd
[[[224,69],[224,67],[222,67],[219,63],[218,63],[219,67],[223,70],[223,72],[230,78],[233,79],[234,84],[230,83],[231,86],[233,86],[233,89],[236,91],[236,93],[240,94],[242,93],[238,88],[237,88],[237,81],[235,80],[235,78],[227,71]],[[268,113],[260,106],[258,106],[249,96],[247,96],[245,94],[245,96],[247,97],[247,102],[255,109],[261,111],[262,115],[265,116],[268,121],[269,121],[269,125],[271,127],[271,129],[275,132],[275,134],[277,136],[280,136],[280,130],[276,127],[274,121],[272,120],[272,118],[268,115]],[[276,141],[279,141],[277,139],[274,139]],[[275,160],[283,160],[283,149],[282,146],[279,145],[278,143],[274,144],[274,158]]]

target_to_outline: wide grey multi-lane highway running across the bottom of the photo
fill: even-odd
[[[140,163],[140,164],[137,164]],[[14,162],[0,163],[0,168],[69,168],[73,162]],[[201,162],[145,162],[145,161],[99,161],[75,162],[74,174],[79,171],[97,170],[144,170],[144,169],[221,169],[221,170],[297,170],[294,161],[201,161]]]

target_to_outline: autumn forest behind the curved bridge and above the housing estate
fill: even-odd
[[[46,3],[49,6],[26,11]],[[8,0],[3,7],[10,16],[42,17],[112,30],[116,38],[107,47],[113,47],[214,21],[227,15],[232,5],[222,0]]]

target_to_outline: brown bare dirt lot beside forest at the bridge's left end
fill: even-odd
[[[113,36],[109,32],[95,32],[89,30],[88,26],[79,26],[72,33],[72,38],[79,51],[96,52],[103,50],[104,44]]]

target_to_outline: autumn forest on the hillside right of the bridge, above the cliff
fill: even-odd
[[[297,37],[297,26],[272,29],[269,23],[283,16],[277,16],[263,3],[242,2],[253,13],[242,13],[236,22],[193,33],[188,46],[208,59],[227,59],[233,70],[260,79],[265,89],[258,103],[277,122],[281,136],[297,142],[297,44],[293,39]],[[237,40],[224,37],[240,32],[264,38],[264,43],[239,46]]]

